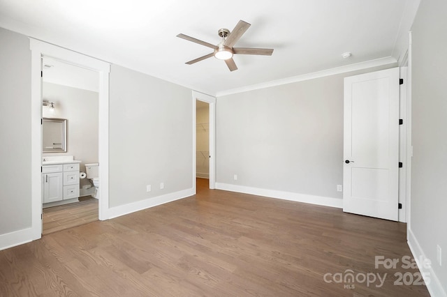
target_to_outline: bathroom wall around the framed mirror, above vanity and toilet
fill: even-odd
[[[73,155],[85,172],[85,164],[98,162],[98,93],[43,82],[43,98],[56,104],[54,114],[43,107],[44,117],[67,119],[67,152],[43,156]],[[86,184],[87,179],[80,180],[81,186]]]

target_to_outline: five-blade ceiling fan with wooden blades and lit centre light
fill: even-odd
[[[205,56],[200,56],[200,58],[193,59],[189,62],[186,62],[186,64],[193,64],[197,63],[199,61],[211,58],[214,56],[216,59],[224,60],[230,71],[237,70],[237,66],[235,64],[235,61],[233,60],[233,54],[257,54],[257,55],[264,55],[264,56],[271,56],[273,53],[273,49],[257,49],[257,48],[251,48],[251,47],[233,47],[235,43],[237,43],[237,40],[239,40],[242,36],[242,34],[249,29],[249,26],[251,24],[244,22],[240,20],[233,31],[230,32],[230,30],[222,28],[217,31],[219,36],[221,36],[222,40],[218,45],[212,45],[211,43],[205,43],[205,41],[198,40],[196,38],[179,34],[177,37],[183,38],[189,41],[192,41],[193,43],[198,43],[199,45],[205,45],[205,47],[210,47],[214,50],[211,54],[207,54]]]

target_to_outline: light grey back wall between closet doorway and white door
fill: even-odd
[[[344,77],[383,68],[217,98],[219,188],[268,189],[282,197],[295,193],[306,197],[296,200],[341,206]]]

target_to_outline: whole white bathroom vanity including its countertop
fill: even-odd
[[[79,201],[80,162],[73,156],[43,158],[43,208]]]

